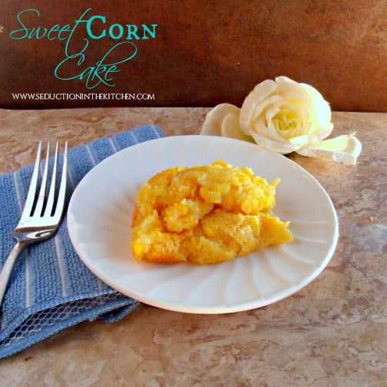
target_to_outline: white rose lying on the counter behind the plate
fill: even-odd
[[[319,91],[309,84],[277,77],[258,84],[241,109],[229,103],[215,106],[206,116],[201,134],[254,139],[282,154],[296,151],[355,164],[362,149],[360,141],[353,134],[322,141],[333,129],[331,109]]]

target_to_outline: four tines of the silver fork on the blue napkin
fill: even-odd
[[[55,156],[53,158],[52,172],[50,171],[50,143],[47,144],[46,161],[44,163],[44,171],[42,175],[42,182],[40,184],[38,194],[39,183],[39,169],[40,159],[42,154],[42,141],[39,142],[37,149],[37,158],[34,164],[34,171],[32,172],[32,178],[30,182],[30,189],[28,189],[27,200],[23,209],[23,214],[20,219],[20,223],[25,223],[29,220],[46,220],[47,224],[56,224],[60,222],[63,207],[65,204],[65,189],[67,184],[67,171],[68,171],[68,143],[65,142],[65,151],[63,154],[63,167],[61,175],[61,183],[59,190],[56,189],[56,180],[58,175],[58,153],[59,144],[56,142]],[[51,172],[51,183],[49,182],[49,175]],[[48,186],[50,188],[48,189]],[[19,224],[23,227],[23,224]]]

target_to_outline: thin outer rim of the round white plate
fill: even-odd
[[[170,302],[168,300],[164,300],[163,298],[154,298],[154,297],[142,296],[141,293],[137,293],[136,291],[130,291],[130,290],[128,290],[125,287],[119,286],[114,281],[110,281],[109,277],[106,277],[106,275],[103,274],[103,272],[101,272],[98,269],[98,267],[96,267],[94,265],[91,265],[91,262],[89,262],[89,260],[87,258],[85,258],[85,257],[82,258],[82,253],[81,253],[80,246],[77,246],[78,241],[77,241],[77,237],[75,235],[76,234],[75,227],[72,227],[72,224],[73,224],[73,222],[72,222],[72,216],[73,216],[72,215],[72,207],[73,207],[73,205],[75,203],[75,198],[77,196],[78,191],[80,191],[82,189],[83,184],[86,184],[85,182],[87,181],[87,179],[90,179],[90,175],[94,174],[95,170],[98,169],[103,163],[108,162],[108,160],[110,160],[111,158],[117,157],[117,155],[119,153],[125,153],[125,152],[128,152],[128,151],[132,151],[134,147],[144,146],[144,144],[150,144],[150,143],[152,143],[154,141],[170,141],[170,140],[173,141],[173,140],[176,140],[176,139],[182,139],[182,137],[184,137],[184,138],[189,138],[189,137],[195,137],[195,138],[202,137],[202,138],[206,138],[206,137],[210,137],[211,139],[213,139],[214,137],[217,138],[217,136],[187,134],[187,135],[160,137],[160,138],[157,138],[157,139],[151,139],[151,140],[148,140],[148,141],[143,141],[141,143],[134,144],[132,146],[129,146],[127,148],[121,149],[118,152],[113,153],[112,155],[108,156],[107,158],[103,159],[100,163],[98,163],[94,167],[92,167],[91,170],[89,170],[89,172],[87,172],[87,174],[84,175],[84,177],[82,177],[81,181],[77,184],[77,186],[75,187],[74,191],[72,192],[72,196],[71,196],[70,202],[68,204],[67,227],[68,227],[68,234],[69,234],[72,246],[75,249],[75,252],[77,253],[77,255],[80,258],[80,260],[82,260],[82,262],[84,263],[84,265],[86,265],[89,268],[89,270],[96,277],[101,279],[101,281],[103,281],[106,284],[108,284],[108,286],[110,286],[111,288],[115,289],[116,291],[120,291],[120,293],[124,294],[125,296],[133,298],[134,300],[138,300],[141,303],[145,303],[147,305],[151,305],[151,306],[154,306],[154,307],[160,307],[160,308],[165,309],[165,310],[172,310],[172,311],[175,311],[175,312],[205,314],[205,315],[207,315],[207,314],[225,314],[225,313],[242,312],[242,311],[246,311],[246,310],[256,309],[256,308],[259,308],[259,307],[264,307],[266,305],[270,305],[272,303],[276,303],[279,300],[283,300],[284,298],[287,298],[288,296],[291,296],[294,293],[297,293],[302,288],[304,288],[305,286],[310,284],[313,280],[315,280],[319,276],[319,274],[321,274],[322,270],[326,267],[326,265],[328,265],[329,261],[333,257],[334,252],[336,250],[337,243],[338,243],[338,234],[339,234],[339,232],[338,232],[338,216],[337,216],[336,208],[334,207],[334,203],[331,200],[331,197],[326,192],[326,190],[324,189],[322,184],[320,184],[319,181],[312,174],[310,174],[310,172],[305,170],[305,168],[301,167],[295,161],[293,161],[293,160],[291,160],[289,158],[286,158],[284,155],[281,155],[280,153],[276,153],[274,151],[269,151],[269,150],[267,150],[265,148],[262,148],[258,144],[250,144],[250,143],[248,143],[246,141],[242,141],[242,140],[238,140],[238,139],[231,139],[231,138],[228,138],[228,137],[219,137],[219,138],[223,139],[223,140],[231,141],[231,142],[238,141],[238,142],[240,142],[242,144],[248,144],[248,146],[257,146],[258,147],[258,151],[265,151],[267,153],[272,153],[273,155],[275,155],[275,157],[285,158],[287,160],[286,162],[290,162],[291,164],[293,164],[293,166],[295,166],[296,168],[299,168],[300,170],[302,170],[304,173],[306,173],[308,175],[308,177],[310,177],[310,179],[312,179],[313,182],[315,182],[315,184],[317,184],[317,186],[319,186],[319,189],[322,189],[322,192],[323,192],[324,196],[326,197],[327,202],[329,203],[329,208],[331,209],[331,212],[334,215],[334,236],[333,236],[333,240],[332,240],[331,246],[329,248],[329,251],[326,254],[324,260],[322,260],[322,262],[320,262],[319,266],[316,267],[316,269],[312,272],[312,274],[310,274],[305,279],[303,279],[303,281],[299,281],[296,284],[292,284],[292,286],[288,286],[285,290],[279,291],[278,295],[276,297],[270,297],[270,298],[265,297],[265,298],[260,299],[260,300],[250,300],[250,301],[245,302],[245,303],[236,303],[236,304],[231,304],[231,305],[227,305],[227,304],[217,304],[217,305],[195,305],[195,304],[189,304],[187,306],[187,305],[183,305],[181,303]]]

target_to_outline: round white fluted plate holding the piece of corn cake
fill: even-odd
[[[277,186],[275,215],[291,221],[295,241],[217,265],[134,261],[130,224],[139,186],[175,165],[222,159],[250,166]],[[255,144],[209,136],[166,137],[115,153],[75,189],[68,209],[75,250],[97,277],[143,303],[191,313],[227,313],[274,303],[309,284],[331,259],[338,221],[328,194],[308,172]]]

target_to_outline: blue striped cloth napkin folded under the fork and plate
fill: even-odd
[[[71,148],[68,198],[101,160],[159,137],[163,137],[159,127],[142,125]],[[0,175],[0,267],[15,243],[11,232],[23,210],[32,170],[30,165]],[[115,322],[137,305],[136,300],[113,290],[87,269],[72,248],[64,218],[56,236],[26,248],[16,261],[1,307],[0,358],[87,319],[103,317]]]

